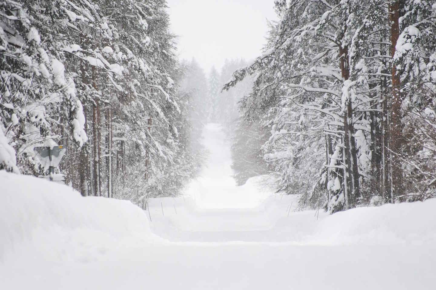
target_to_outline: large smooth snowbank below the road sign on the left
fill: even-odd
[[[71,187],[0,171],[0,261],[92,259],[121,244],[155,240],[148,217],[129,201],[82,197]]]

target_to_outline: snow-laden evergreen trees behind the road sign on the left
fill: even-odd
[[[82,195],[144,206],[198,170],[164,0],[0,3],[0,167],[41,175],[34,147]],[[205,80],[204,80],[205,83]],[[3,136],[4,135],[4,136]]]

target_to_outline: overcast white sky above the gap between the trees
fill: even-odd
[[[274,0],[167,0],[171,30],[181,59],[200,63],[208,74],[226,58],[252,60],[260,55],[268,27],[276,20]]]

